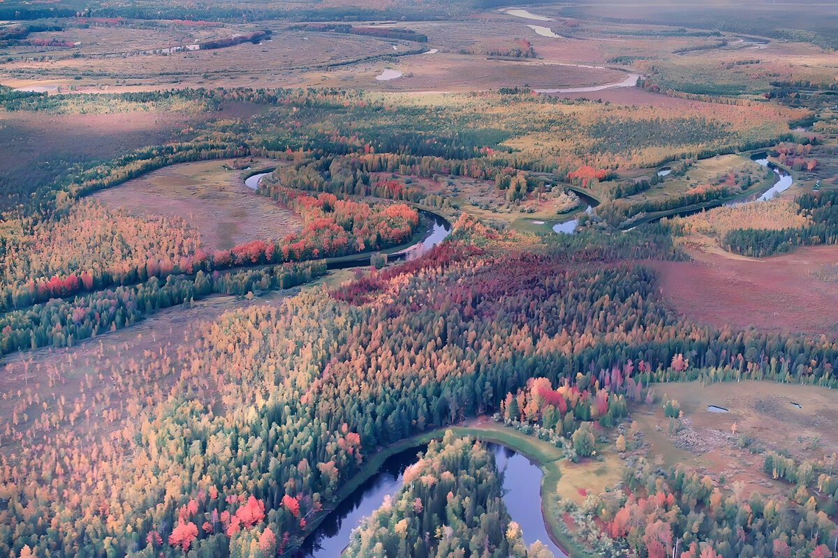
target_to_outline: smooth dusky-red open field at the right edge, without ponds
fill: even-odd
[[[663,295],[691,320],[838,336],[838,284],[815,277],[825,265],[838,263],[835,246],[763,259],[701,251],[691,256],[695,261],[654,263]]]

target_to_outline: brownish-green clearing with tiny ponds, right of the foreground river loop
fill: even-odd
[[[709,474],[723,489],[732,490],[741,482],[745,498],[754,490],[782,498],[790,484],[763,473],[763,456],[738,447],[739,436],[750,438],[749,446],[763,451],[788,450],[797,461],[820,460],[838,451],[838,434],[831,427],[838,420],[838,406],[833,393],[823,387],[772,381],[702,386],[692,381],[656,385],[654,392],[680,402],[684,430],[668,433],[669,418],[661,406],[640,405],[632,412],[636,428],[627,429],[627,438],[644,433],[640,439],[648,443],[644,451],[650,458],[667,467],[685,463]],[[707,412],[708,405],[728,412]]]

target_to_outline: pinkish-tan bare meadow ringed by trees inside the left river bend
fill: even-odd
[[[299,216],[246,187],[246,171],[226,170],[224,165],[230,162],[168,166],[93,197],[142,215],[184,218],[199,230],[204,250],[279,239],[303,228]],[[265,167],[269,161],[257,159],[252,164]]]

